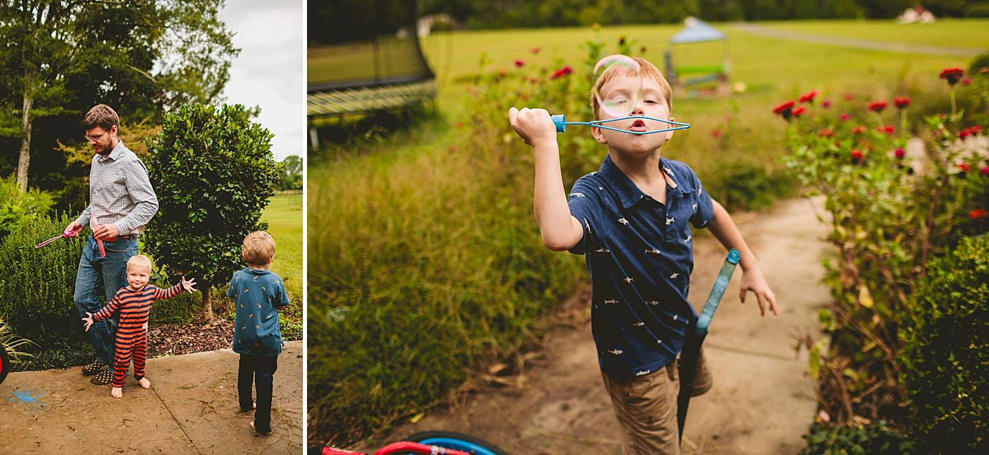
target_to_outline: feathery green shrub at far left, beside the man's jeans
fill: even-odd
[[[85,237],[62,238],[35,248],[72,220],[29,217],[0,241],[0,318],[42,349],[85,339],[72,303]]]

